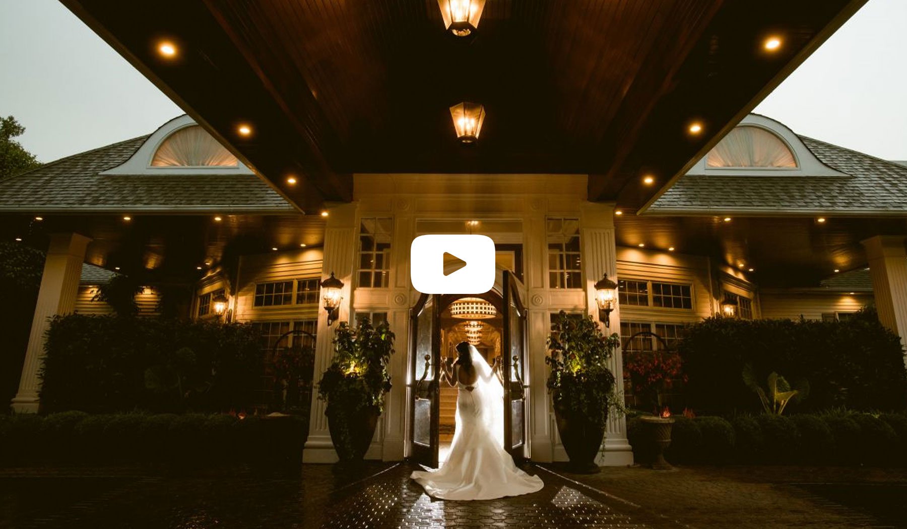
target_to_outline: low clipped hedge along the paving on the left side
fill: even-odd
[[[163,465],[298,469],[304,419],[227,414],[0,416],[0,466]]]

